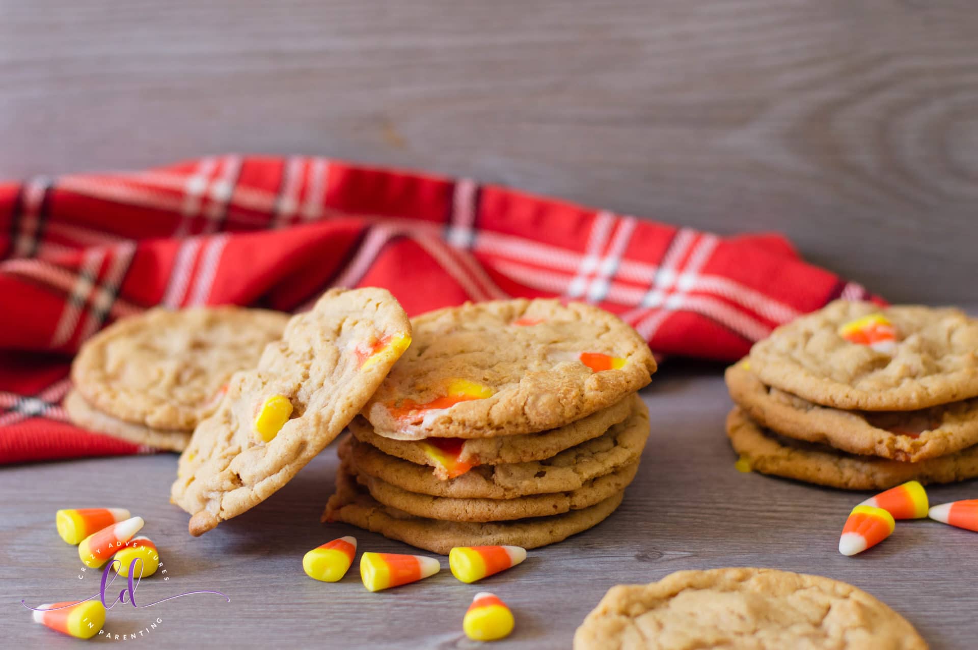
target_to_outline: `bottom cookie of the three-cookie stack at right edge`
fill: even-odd
[[[978,445],[920,462],[851,455],[778,436],[738,407],[727,416],[727,435],[751,469],[831,488],[885,490],[911,480],[952,483],[978,476]]]

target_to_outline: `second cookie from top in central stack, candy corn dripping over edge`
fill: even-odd
[[[350,431],[357,440],[376,447],[384,454],[433,467],[435,476],[446,480],[450,473],[442,459],[443,455],[449,455],[456,465],[498,465],[543,460],[603,435],[612,426],[624,421],[630,413],[644,408],[642,399],[631,395],[607,409],[601,409],[556,429],[495,438],[393,440],[375,433],[374,427],[363,417],[356,417],[350,422]],[[451,447],[446,447],[444,442],[439,441],[450,442]],[[435,449],[425,445],[425,442]]]

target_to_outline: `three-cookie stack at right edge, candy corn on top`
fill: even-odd
[[[978,321],[836,301],[728,368],[739,468],[852,490],[978,476]]]

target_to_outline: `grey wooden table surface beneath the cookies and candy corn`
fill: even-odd
[[[863,493],[740,474],[723,432],[730,401],[722,368],[666,364],[643,393],[652,433],[639,475],[619,510],[597,528],[531,550],[519,567],[476,585],[444,570],[415,585],[369,593],[356,569],[337,584],[302,573],[303,553],[342,535],[361,550],[411,552],[400,542],[345,525],[319,524],[331,493],[334,447],[282,491],[200,539],[167,502],[175,455],[100,458],[0,471],[0,638],[20,647],[74,640],[30,623],[20,604],[90,595],[96,575],[77,579],[74,547],[58,538],[60,507],[121,505],[143,516],[171,578],[137,588],[137,604],[191,590],[147,609],[116,605],[106,629],[137,632],[146,647],[467,648],[462,617],[472,595],[491,590],[517,627],[503,648],[566,648],[605,590],[658,580],[681,569],[775,567],[866,589],[906,616],[938,648],[974,647],[978,636],[978,536],[929,520],[902,522],[886,542],[857,557],[836,550]],[[978,496],[974,482],[929,489],[933,502]],[[13,498],[12,498],[13,497]],[[138,635],[161,619],[145,638]],[[495,646],[494,646],[495,647]]]

